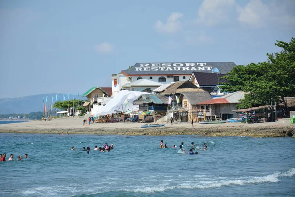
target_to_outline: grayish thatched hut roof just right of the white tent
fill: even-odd
[[[133,101],[134,105],[141,105],[145,103],[154,103],[154,104],[168,104],[168,97],[162,95],[141,95],[138,99]]]

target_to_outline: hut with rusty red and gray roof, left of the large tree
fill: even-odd
[[[236,118],[236,104],[241,103],[240,99],[244,99],[244,92],[237,91],[229,93],[222,97],[213,98],[207,101],[197,103],[197,108],[206,109],[207,119],[215,119],[216,117],[226,120]]]

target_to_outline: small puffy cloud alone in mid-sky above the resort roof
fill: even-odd
[[[163,24],[161,20],[155,23],[155,29],[158,33],[172,34],[182,29],[179,19],[183,15],[179,12],[173,12],[167,19],[167,23]]]

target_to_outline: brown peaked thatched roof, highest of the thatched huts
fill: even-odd
[[[194,91],[195,90],[195,91]],[[182,92],[197,92],[197,91],[204,91],[198,88],[193,82],[191,81],[177,81],[173,85],[169,86],[164,92],[160,95],[175,95],[176,93]]]

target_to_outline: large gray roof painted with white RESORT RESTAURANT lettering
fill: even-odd
[[[122,70],[125,75],[183,75],[192,72],[212,73],[218,68],[220,73],[228,73],[236,66],[233,62],[193,62],[193,63],[136,63],[132,68]]]

